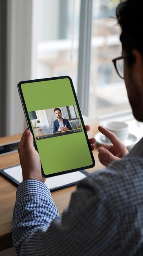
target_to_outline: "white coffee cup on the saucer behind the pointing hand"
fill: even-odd
[[[107,121],[103,123],[103,127],[113,132],[123,143],[129,136],[129,126],[125,122],[119,121]],[[110,140],[106,138],[106,143],[111,143]]]

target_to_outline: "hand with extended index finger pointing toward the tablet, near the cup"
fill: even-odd
[[[99,126],[98,130],[103,135],[108,137],[108,139],[110,139],[111,143],[113,144],[113,145],[110,145],[110,144],[99,145],[98,157],[101,164],[103,164],[104,166],[108,166],[110,162],[114,160],[119,160],[129,153],[126,146],[117,138],[117,136],[114,133],[110,132],[106,128],[103,128],[102,126]]]

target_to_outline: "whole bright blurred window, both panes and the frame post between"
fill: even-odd
[[[118,2],[119,0],[33,1],[32,78],[71,76],[84,115],[101,116],[130,111],[124,81],[116,74],[111,61],[121,55],[120,28],[115,18]],[[86,12],[87,9],[89,12]],[[91,34],[88,34],[88,27],[86,30],[88,22],[91,22]],[[82,35],[84,32],[86,37]],[[80,48],[88,36],[91,37],[87,41],[87,44],[91,44],[91,58],[88,60],[86,57],[86,64],[91,61],[90,68],[88,70],[87,65],[86,70],[80,70],[80,64],[83,63]],[[87,48],[83,47],[83,51],[86,52]],[[86,78],[89,77],[87,81],[83,78],[85,85],[81,79],[84,73]],[[84,110],[83,105],[88,111]]]

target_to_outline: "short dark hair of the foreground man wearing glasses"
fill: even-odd
[[[121,0],[116,13],[122,30],[122,47],[132,64],[132,49],[137,49],[143,55],[143,0]]]

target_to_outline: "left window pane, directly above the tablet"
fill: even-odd
[[[33,1],[32,78],[69,75],[77,88],[80,0]]]

